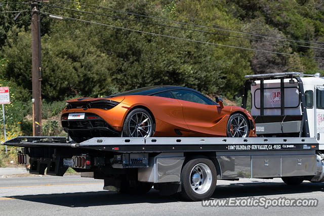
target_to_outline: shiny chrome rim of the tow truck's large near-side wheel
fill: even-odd
[[[205,163],[198,163],[190,172],[190,185],[197,194],[206,193],[212,185],[212,171]]]

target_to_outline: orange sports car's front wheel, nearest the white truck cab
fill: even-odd
[[[227,137],[249,137],[250,127],[247,118],[241,113],[231,115],[226,126]]]

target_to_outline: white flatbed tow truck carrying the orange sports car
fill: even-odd
[[[248,75],[257,138],[17,137],[18,163],[30,173],[63,176],[68,167],[104,180],[104,189],[208,199],[217,180],[281,178],[289,185],[324,181],[324,79],[297,72]],[[282,103],[281,103],[282,102]]]

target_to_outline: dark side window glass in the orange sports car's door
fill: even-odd
[[[198,104],[214,105],[212,101],[206,97],[188,90],[172,90],[172,95],[179,100],[189,101]]]

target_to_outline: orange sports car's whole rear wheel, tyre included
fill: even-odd
[[[151,137],[155,131],[155,122],[151,114],[142,108],[132,110],[123,126],[123,137]]]

